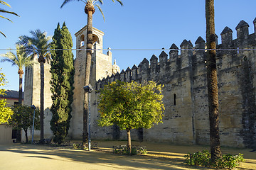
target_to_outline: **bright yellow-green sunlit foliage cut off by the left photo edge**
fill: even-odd
[[[1,69],[0,69],[1,71]],[[4,86],[6,79],[4,79],[5,75],[0,72],[0,86]],[[0,96],[5,95],[5,90],[0,89]],[[8,103],[5,99],[0,100],[0,124],[2,123],[9,123],[9,120],[11,119],[11,115],[14,114],[14,112],[11,110],[10,107],[7,107]]]

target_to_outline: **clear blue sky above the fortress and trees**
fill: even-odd
[[[124,6],[104,0],[102,11],[106,21],[96,9],[92,25],[105,33],[103,47],[112,49],[169,49],[172,43],[178,47],[181,42],[191,40],[196,42],[198,36],[206,40],[206,18],[204,0],[122,0]],[[15,48],[15,42],[20,35],[29,35],[29,30],[40,29],[48,35],[53,35],[58,22],[66,26],[73,36],[75,48],[75,33],[87,23],[82,1],[70,1],[60,8],[63,0],[9,0],[11,5],[0,6],[18,13],[20,17],[4,15],[13,23],[0,18],[0,30],[7,38],[0,35],[0,54],[2,49]],[[254,33],[252,21],[256,17],[255,0],[215,0],[215,33],[220,33],[228,26],[233,30],[241,20],[250,25],[250,34]],[[144,57],[159,56],[161,51],[112,51],[113,60],[117,60],[120,69],[127,69],[133,64],[139,64]],[[18,68],[9,63],[0,63],[1,72],[6,74],[9,84],[4,89],[18,90]]]

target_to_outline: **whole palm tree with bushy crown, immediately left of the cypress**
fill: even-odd
[[[17,42],[20,45],[24,45],[26,51],[31,54],[32,57],[38,56],[38,62],[40,63],[40,79],[41,79],[41,89],[40,89],[40,141],[43,142],[43,111],[44,111],[44,63],[46,60],[50,60],[50,40],[51,38],[46,36],[46,32],[41,32],[41,30],[31,30],[31,37],[22,35],[19,37]]]

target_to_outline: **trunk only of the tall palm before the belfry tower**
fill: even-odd
[[[89,6],[89,7],[88,7]],[[92,14],[94,13],[95,8],[86,4],[85,13],[87,13],[87,40],[86,40],[86,62],[85,62],[85,86],[89,85],[90,81],[90,67],[92,62]],[[85,146],[85,143],[88,141],[88,132],[87,132],[87,118],[88,118],[88,95],[84,93],[84,104],[83,104],[83,128],[82,128],[82,143]]]

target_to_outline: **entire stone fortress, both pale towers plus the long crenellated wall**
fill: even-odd
[[[253,21],[255,33],[249,35],[249,25],[240,21],[235,28],[237,39],[233,40],[233,30],[226,27],[221,35],[218,49],[218,94],[220,111],[221,145],[229,147],[252,147],[256,142],[256,18]],[[93,28],[94,49],[103,48],[104,33]],[[75,90],[73,113],[70,120],[68,137],[82,139],[82,103],[85,86],[85,46],[86,26],[75,33],[76,52]],[[217,35],[216,35],[217,36]],[[216,39],[217,41],[217,39]],[[99,113],[100,88],[116,79],[121,81],[149,81],[164,84],[163,123],[153,128],[132,130],[132,140],[149,142],[173,142],[176,144],[209,144],[208,92],[206,81],[206,42],[199,37],[193,46],[191,41],[183,40],[181,52],[173,44],[169,55],[163,50],[159,58],[153,55],[138,65],[125,71],[113,72],[112,53],[103,54],[102,50],[92,53],[90,84],[95,91],[91,94],[91,137],[92,140],[126,140],[126,132],[116,125],[100,128],[97,125]],[[218,44],[218,43],[217,43]],[[183,49],[183,50],[182,50]],[[114,64],[115,65],[115,64]],[[117,67],[115,65],[115,67]],[[45,66],[45,137],[51,137],[50,118],[50,65]],[[40,106],[40,69],[39,64],[26,68],[24,103]],[[37,134],[37,133],[36,133]],[[40,133],[38,133],[39,135]]]

